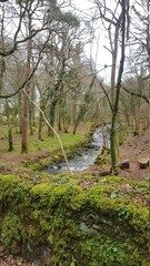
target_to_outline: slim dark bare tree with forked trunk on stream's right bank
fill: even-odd
[[[104,29],[108,31],[110,49],[109,52],[112,57],[111,66],[111,98],[107,95],[110,103],[112,120],[111,120],[111,167],[112,172],[117,174],[117,147],[118,147],[118,133],[117,133],[117,117],[119,111],[121,80],[124,66],[124,48],[126,34],[128,37],[129,29],[129,1],[113,1],[112,8],[107,4],[107,1],[94,0],[98,9],[98,17],[102,20]],[[119,45],[120,44],[120,45]],[[120,51],[120,62],[118,63]],[[118,73],[118,74],[117,74]],[[102,85],[102,83],[101,83]],[[104,89],[104,88],[103,88]],[[107,94],[106,90],[104,93]]]

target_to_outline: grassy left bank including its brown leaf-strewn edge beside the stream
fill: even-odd
[[[79,127],[77,134],[60,133],[60,139],[68,157],[72,157],[77,151],[79,152],[80,149],[89,143],[93,131],[93,129],[90,131],[90,123],[86,123],[81,129]],[[2,126],[0,149],[1,173],[20,175],[22,172],[23,175],[23,172],[39,171],[54,162],[64,161],[57,136],[47,136],[47,132],[44,132],[43,140],[39,141],[37,132],[34,132],[34,135],[31,135],[29,140],[29,153],[23,155],[20,153],[21,136],[17,133],[14,134],[14,150],[8,152],[6,133],[6,126]],[[26,170],[22,168],[20,162],[23,163],[22,165],[26,166]]]

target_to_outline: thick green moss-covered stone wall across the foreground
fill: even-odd
[[[49,266],[148,266],[148,201],[146,182],[1,175],[0,241]]]

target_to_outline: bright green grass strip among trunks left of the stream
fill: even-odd
[[[60,139],[62,141],[62,144],[64,147],[69,147],[70,145],[78,144],[80,142],[83,142],[86,140],[86,133],[88,133],[90,130],[89,124],[82,124],[78,131],[77,134],[72,133],[59,133]],[[24,157],[26,155],[22,155],[20,153],[21,151],[21,135],[18,133],[14,133],[13,130],[13,147],[14,150],[12,152],[8,152],[8,127],[7,125],[2,125],[0,130],[0,161],[6,162],[8,158],[12,161],[14,157]],[[53,152],[56,150],[60,149],[60,143],[57,139],[57,136],[48,136],[47,135],[47,129],[43,129],[42,133],[42,141],[38,140],[38,132],[36,131],[33,135],[29,135],[29,152],[28,155],[32,154],[40,154],[44,152]]]

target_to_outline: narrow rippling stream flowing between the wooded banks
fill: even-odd
[[[107,135],[107,143],[109,146],[109,125],[104,127]],[[69,160],[70,170],[73,171],[83,171],[89,166],[93,165],[94,160],[101,153],[103,146],[102,132],[101,127],[98,127],[92,135],[92,140],[89,143],[87,149],[80,151],[80,153],[76,154],[73,158]],[[56,165],[49,165],[47,168],[49,174],[59,174],[67,173],[68,168],[66,163],[58,163]]]

